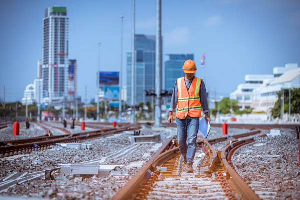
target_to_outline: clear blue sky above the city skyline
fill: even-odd
[[[101,70],[120,67],[120,15],[124,15],[123,71],[131,49],[132,0],[1,0],[0,97],[21,100],[37,76],[42,58],[42,19],[47,7],[66,6],[69,58],[77,59],[78,95],[94,98],[101,42]],[[136,33],[156,33],[156,0],[136,0]],[[194,53],[214,95],[229,93],[246,74],[272,74],[273,67],[300,64],[298,0],[162,0],[163,61],[165,54]],[[206,68],[200,60],[206,53]],[[164,65],[164,64],[163,64]]]

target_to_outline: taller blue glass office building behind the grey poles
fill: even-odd
[[[151,102],[151,97],[145,95],[144,90],[155,89],[155,35],[135,35],[135,94],[136,104]],[[127,103],[131,104],[131,52],[127,52]]]

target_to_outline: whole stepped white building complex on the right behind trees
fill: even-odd
[[[238,100],[240,109],[254,108],[253,111],[269,112],[277,101],[276,92],[283,88],[299,88],[297,63],[285,67],[274,67],[273,75],[246,75],[246,84],[237,86],[230,99]]]

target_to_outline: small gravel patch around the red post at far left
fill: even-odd
[[[46,131],[36,125],[33,122],[30,122],[30,128],[26,129],[26,123],[20,123],[20,132],[19,135],[13,135],[13,125],[9,124],[8,127],[0,129],[0,141],[8,141],[14,139],[24,139],[29,137],[38,137],[45,135]]]

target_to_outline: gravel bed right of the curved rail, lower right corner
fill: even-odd
[[[232,162],[240,176],[263,199],[300,199],[299,140],[296,131],[256,137],[239,148]]]

